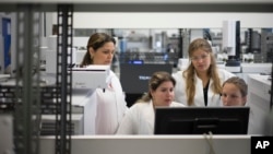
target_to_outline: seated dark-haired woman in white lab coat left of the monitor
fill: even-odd
[[[155,72],[149,81],[149,93],[130,107],[117,134],[154,134],[155,107],[183,106],[174,100],[175,79],[167,72]]]

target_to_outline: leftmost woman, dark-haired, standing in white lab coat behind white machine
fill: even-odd
[[[87,51],[83,58],[81,67],[90,64],[111,64],[116,40],[105,33],[93,34],[87,43]],[[95,134],[115,134],[118,126],[128,109],[124,94],[118,76],[110,71],[108,86],[104,90],[95,91],[96,102],[94,107],[93,127],[95,130],[87,131]],[[96,81],[94,81],[96,82]]]

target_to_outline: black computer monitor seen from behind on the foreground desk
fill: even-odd
[[[161,107],[154,134],[247,134],[249,107]]]

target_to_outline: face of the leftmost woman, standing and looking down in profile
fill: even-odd
[[[105,43],[103,47],[94,50],[92,47],[88,49],[93,58],[93,64],[111,64],[115,55],[114,43]]]

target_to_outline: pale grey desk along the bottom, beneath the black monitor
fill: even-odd
[[[71,154],[250,154],[250,135],[74,135]],[[212,145],[212,146],[211,146]],[[40,154],[54,154],[55,137],[40,138]]]

